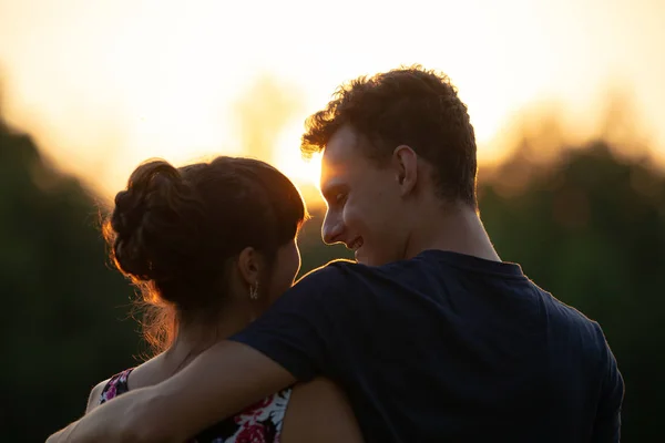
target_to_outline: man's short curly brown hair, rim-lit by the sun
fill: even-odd
[[[475,206],[473,126],[446,74],[413,65],[342,84],[326,109],[307,119],[303,155],[321,152],[345,125],[362,136],[366,155],[379,162],[397,146],[410,146],[433,166],[441,197]]]

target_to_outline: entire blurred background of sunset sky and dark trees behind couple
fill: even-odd
[[[268,161],[314,218],[303,121],[360,74],[447,72],[478,134],[481,215],[504,260],[603,326],[623,436],[665,396],[663,0],[0,0],[0,440],[37,442],[145,348],[99,213],[149,157]]]

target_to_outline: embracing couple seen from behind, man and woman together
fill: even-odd
[[[620,440],[601,327],[483,228],[473,127],[446,75],[345,84],[301,151],[323,153],[324,240],[357,262],[293,285],[307,210],[263,162],[141,165],[104,234],[160,309],[163,352],[95,387],[49,442]]]

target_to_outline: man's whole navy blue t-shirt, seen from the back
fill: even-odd
[[[338,382],[368,442],[618,441],[623,380],[601,328],[514,264],[332,262],[232,339]]]

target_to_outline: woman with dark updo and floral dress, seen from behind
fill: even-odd
[[[98,384],[88,411],[177,373],[242,330],[289,288],[307,216],[296,187],[270,165],[217,157],[175,168],[139,166],[115,197],[104,237],[145,301],[144,332],[160,353]],[[320,379],[221,421],[193,442],[360,442],[344,393]]]

